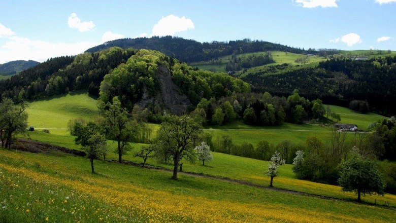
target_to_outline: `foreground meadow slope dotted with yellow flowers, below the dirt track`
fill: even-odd
[[[322,200],[64,154],[0,150],[0,221],[394,222],[379,206]],[[27,211],[29,210],[29,211]],[[287,214],[285,214],[287,213]]]

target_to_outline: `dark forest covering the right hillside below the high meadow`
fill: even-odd
[[[287,96],[299,89],[310,100],[320,98],[324,103],[345,107],[353,100],[367,101],[376,113],[396,113],[396,57],[331,59],[314,68],[278,65],[248,70],[241,79],[250,83],[254,92]]]

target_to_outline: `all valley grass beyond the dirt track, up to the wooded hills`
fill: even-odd
[[[69,104],[74,104],[74,106],[77,106],[79,109],[75,109],[69,106]],[[376,121],[379,118],[384,118],[376,114],[356,114],[351,112],[348,108],[339,106],[331,105],[331,109],[333,112],[341,113],[340,115],[343,119],[343,123],[353,123],[358,126],[367,126],[373,122],[373,120]],[[95,100],[81,92],[52,98],[50,100],[31,102],[28,112],[29,125],[35,125],[35,127],[51,126],[55,128],[50,130],[51,134],[42,131],[31,132],[30,137],[32,139],[77,150],[81,150],[81,147],[74,144],[74,137],[70,136],[67,130],[59,130],[59,128],[66,128],[70,118],[91,118],[97,115]],[[58,113],[59,115],[57,115]],[[154,130],[159,127],[156,124],[149,125]],[[304,143],[309,136],[317,136],[322,140],[326,140],[330,132],[329,129],[330,127],[328,126],[321,127],[318,125],[296,125],[290,123],[274,127],[257,127],[235,122],[224,126],[207,126],[204,131],[211,132],[214,139],[216,139],[217,136],[221,137],[227,134],[233,139],[234,143],[239,144],[247,141],[256,145],[256,143],[261,140],[268,140],[270,143],[274,144],[285,139],[291,140],[294,143]],[[108,158],[117,159],[117,154],[114,153],[115,143],[109,141],[109,146]],[[134,151],[139,150],[141,146],[142,144],[134,144]],[[133,156],[134,151],[128,152],[127,155],[123,156],[123,159],[141,162],[138,158]],[[159,163],[154,159],[149,159],[148,163],[167,169],[173,168],[170,164]],[[202,166],[199,163],[189,164],[185,162],[183,168],[185,171],[194,173],[228,177],[261,185],[268,185],[269,178],[264,175],[267,165],[268,163],[265,161],[214,153],[214,161],[207,166]],[[276,178],[274,185],[278,188],[314,193],[323,196],[350,200],[355,198],[355,195],[352,193],[341,192],[340,187],[296,179],[291,171],[291,165],[282,166],[280,176]],[[372,203],[375,202],[375,199],[377,203],[388,201],[390,205],[396,205],[396,197],[393,195],[386,195],[385,197],[369,196],[363,199],[366,202]]]

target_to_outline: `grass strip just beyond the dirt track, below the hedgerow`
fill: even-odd
[[[30,137],[35,140],[56,144],[64,147],[74,148],[81,150],[81,147],[74,144],[74,137],[70,135],[51,135],[43,132],[31,133]],[[134,157],[134,153],[138,151],[143,144],[133,144],[133,151],[129,151],[123,156],[124,160],[133,162],[142,162],[140,158]],[[109,154],[108,159],[118,159],[118,155],[115,152],[116,144],[109,141]],[[148,164],[166,168],[169,170],[173,169],[173,165],[158,162],[155,159],[150,158],[147,161]],[[269,177],[265,176],[265,171],[268,162],[255,160],[250,158],[237,157],[222,153],[213,153],[213,161],[203,166],[197,162],[190,164],[184,161],[183,170],[187,172],[226,177],[230,179],[244,180],[252,183],[267,186],[269,184]],[[296,179],[294,173],[291,170],[292,165],[285,164],[280,168],[279,176],[274,180],[274,186],[281,189],[293,190],[306,192],[311,194],[318,194],[322,196],[335,197],[347,200],[354,200],[355,195],[353,193],[341,192],[341,188],[335,185],[328,185],[323,183],[316,183],[306,180]],[[367,196],[362,198],[363,201],[369,203],[384,204],[389,202],[391,206],[396,207],[396,196],[385,195],[381,196]]]

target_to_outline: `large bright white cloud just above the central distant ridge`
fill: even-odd
[[[178,17],[169,15],[162,17],[157,24],[154,25],[151,36],[153,35],[174,35],[175,33],[186,31],[188,29],[194,29],[194,23],[191,19],[186,17]]]

